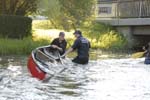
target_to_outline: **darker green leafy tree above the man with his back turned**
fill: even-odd
[[[74,27],[80,25],[95,14],[96,0],[59,0],[65,19],[72,22]]]

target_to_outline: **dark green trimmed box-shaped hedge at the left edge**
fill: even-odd
[[[0,36],[23,38],[31,35],[32,19],[23,16],[0,16]]]

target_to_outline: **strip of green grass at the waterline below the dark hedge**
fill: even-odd
[[[47,45],[48,41],[33,41],[31,37],[20,39],[0,38],[0,55],[25,55],[39,46]]]

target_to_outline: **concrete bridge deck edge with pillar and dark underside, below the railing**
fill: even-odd
[[[122,33],[128,48],[146,45],[150,41],[150,18],[98,19],[98,22],[109,24]]]

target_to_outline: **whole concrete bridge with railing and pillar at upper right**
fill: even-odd
[[[122,33],[130,46],[150,41],[150,0],[98,0],[98,22]]]

